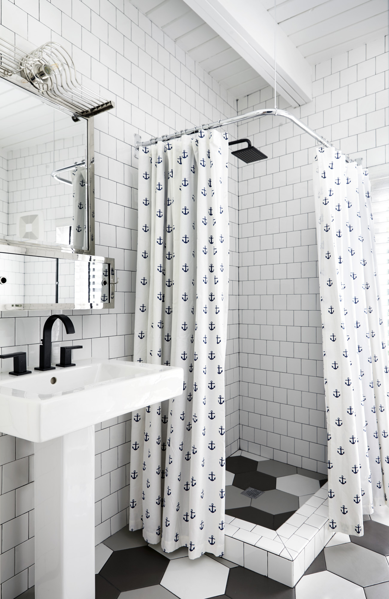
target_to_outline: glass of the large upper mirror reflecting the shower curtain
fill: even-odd
[[[86,119],[0,78],[1,238],[87,250],[86,160]]]

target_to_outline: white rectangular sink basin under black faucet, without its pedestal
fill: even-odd
[[[181,368],[81,360],[71,368],[0,377],[0,431],[41,443],[180,395]]]

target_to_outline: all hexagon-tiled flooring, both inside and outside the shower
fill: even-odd
[[[227,459],[226,513],[272,530],[326,482],[287,464],[238,457]],[[245,497],[247,487],[264,492]],[[163,553],[142,531],[124,527],[96,547],[96,599],[388,599],[389,509],[366,518],[363,537],[336,533],[294,588],[209,554],[189,559],[186,547]],[[17,599],[34,599],[34,587]]]

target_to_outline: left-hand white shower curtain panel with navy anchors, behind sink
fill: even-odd
[[[183,392],[133,413],[130,530],[166,552],[224,552],[227,134],[139,151],[134,361],[180,366]]]

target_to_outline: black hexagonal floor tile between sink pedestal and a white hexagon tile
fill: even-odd
[[[151,547],[114,551],[100,574],[120,591],[159,585],[169,559]]]

